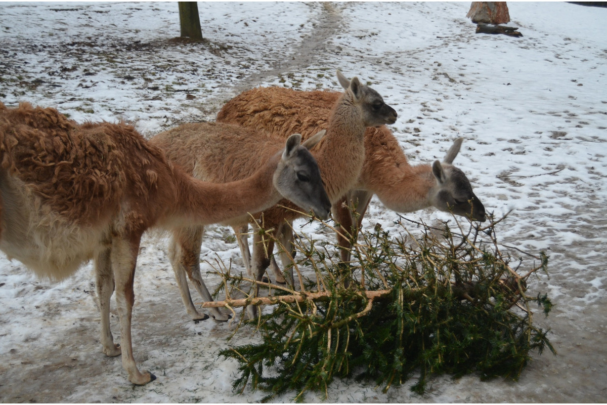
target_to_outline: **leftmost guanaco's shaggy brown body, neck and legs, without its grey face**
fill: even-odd
[[[103,352],[122,353],[129,381],[146,384],[155,377],[137,369],[131,342],[141,235],[151,226],[204,225],[273,205],[281,195],[271,185],[294,184],[291,159],[304,154],[314,162],[299,141],[290,138],[285,152],[247,179],[212,184],[174,168],[132,126],[78,125],[52,108],[0,103],[0,249],[52,279],[94,257]],[[114,287],[120,346],[109,328]]]

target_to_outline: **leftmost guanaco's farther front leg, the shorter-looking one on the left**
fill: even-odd
[[[95,285],[99,299],[101,313],[101,345],[103,353],[114,357],[121,353],[120,345],[114,343],[114,336],[110,330],[110,299],[114,293],[114,274],[112,274],[110,247],[104,248],[95,258]]]

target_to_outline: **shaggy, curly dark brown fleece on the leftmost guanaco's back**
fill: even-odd
[[[77,225],[120,211],[124,190],[147,199],[158,181],[160,149],[127,124],[76,124],[53,108],[19,104],[0,111],[1,169],[32,191],[35,204]]]

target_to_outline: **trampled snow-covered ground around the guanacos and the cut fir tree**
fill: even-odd
[[[604,402],[607,9],[508,5],[508,25],[522,38],[475,34],[469,2],[198,2],[207,41],[184,44],[171,41],[179,35],[175,2],[1,2],[0,101],[56,107],[76,121],[126,120],[151,136],[212,120],[253,86],[339,90],[336,69],[358,76],[398,111],[392,130],[412,163],[443,158],[455,138],[466,138],[456,165],[488,211],[499,217],[512,209],[498,226],[501,242],[549,254],[549,277],[532,279],[531,288],[555,304],[535,322],[551,328],[558,356],[535,355],[516,383],[434,378],[424,396],[409,384],[382,393],[337,380],[328,401]],[[450,220],[430,209],[407,217]],[[374,200],[364,223],[390,229],[395,219]],[[332,237],[314,224],[300,232]],[[209,227],[201,259],[242,268],[230,235]],[[143,240],[135,289],[135,358],[158,376],[143,387],[127,382],[119,358],[101,353],[90,264],[53,284],[2,254],[2,401],[262,398],[232,392],[237,365],[217,352],[234,343],[226,341],[234,325],[189,320],[164,237]],[[112,327],[117,337],[115,314]],[[241,330],[235,339],[256,336]]]

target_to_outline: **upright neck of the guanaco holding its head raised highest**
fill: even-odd
[[[331,202],[354,186],[365,158],[365,125],[346,92],[331,111],[327,135],[314,154]]]

